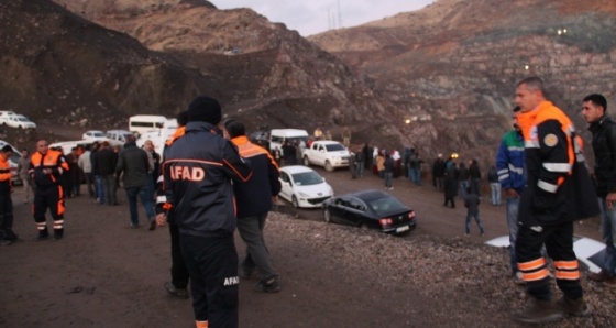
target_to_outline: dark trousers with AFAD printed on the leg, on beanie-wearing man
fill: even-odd
[[[216,237],[180,232],[184,261],[190,272],[193,310],[210,327],[238,327],[238,251],[233,234]]]

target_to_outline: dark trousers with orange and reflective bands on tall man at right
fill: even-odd
[[[573,251],[573,222],[539,228],[519,227],[515,245],[518,267],[522,271],[525,263],[543,262],[541,249],[544,243],[548,256],[554,262],[557,285],[564,293],[564,297],[569,299],[582,297],[580,270],[575,252]],[[559,263],[574,263],[574,265],[561,265]],[[547,263],[543,266],[532,267],[531,271],[540,273],[544,269],[547,269]],[[527,281],[527,292],[535,298],[550,300],[552,298],[550,277],[546,274],[540,280]]]

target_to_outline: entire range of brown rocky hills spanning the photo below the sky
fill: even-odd
[[[607,0],[440,0],[311,42],[250,9],[207,1],[57,2],[73,13],[45,0],[2,4],[10,19],[0,56],[11,74],[0,77],[0,97],[35,119],[51,108],[63,122],[97,114],[124,124],[210,94],[251,129],[319,127],[337,136],[351,127],[355,144],[455,151],[487,165],[520,78],[543,77],[579,129],[579,99],[614,99],[616,4]]]

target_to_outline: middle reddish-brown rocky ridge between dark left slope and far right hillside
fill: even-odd
[[[382,117],[391,103],[374,95],[336,56],[249,9],[218,10],[207,1],[57,0],[66,9],[138,39],[213,81],[228,116],[250,128],[320,127],[336,135],[400,144]],[[186,102],[184,102],[186,103]]]

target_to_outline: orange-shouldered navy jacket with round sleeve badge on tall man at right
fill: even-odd
[[[518,117],[525,142],[527,187],[518,221],[558,225],[596,214],[596,194],[566,114],[550,101]]]

